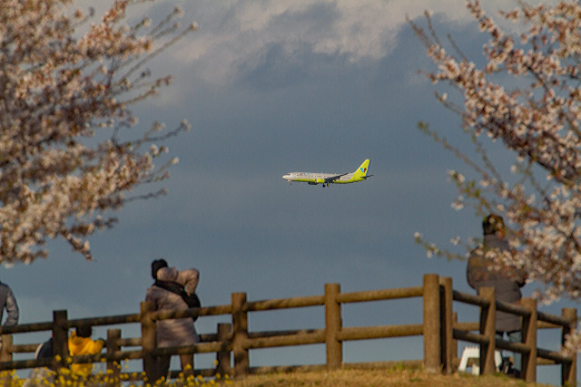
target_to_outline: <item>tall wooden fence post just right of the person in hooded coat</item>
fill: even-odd
[[[250,372],[248,349],[248,313],[246,293],[232,293],[232,352],[234,353],[234,375],[241,376]]]

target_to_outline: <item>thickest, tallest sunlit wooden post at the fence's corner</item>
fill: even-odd
[[[441,372],[440,302],[438,275],[424,275],[424,368]]]

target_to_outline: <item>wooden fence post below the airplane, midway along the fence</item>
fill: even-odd
[[[341,330],[341,305],[337,301],[339,284],[325,284],[325,342],[327,369],[338,370],[343,364],[343,344],[337,338]]]

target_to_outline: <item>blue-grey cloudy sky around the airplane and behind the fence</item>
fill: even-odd
[[[503,4],[487,1],[487,12]],[[422,23],[428,9],[442,36],[478,54],[483,39],[463,1],[158,1],[137,12],[159,19],[175,6],[199,31],[152,63],[154,74],[172,73],[175,82],[133,110],[143,126],[192,124],[169,142],[180,159],[164,184],[169,194],[119,211],[113,231],[91,238],[93,262],[55,243],[44,261],[2,268],[22,323],[49,321],[57,309],[73,318],[137,313],[159,257],[201,271],[203,305],[229,304],[234,292],[249,300],[320,295],[326,283],[346,292],[415,286],[427,273],[472,292],[465,262],[428,259],[414,242],[420,232],[452,247],[452,237],[478,237],[481,228],[470,209],[450,207],[456,189],[446,171],[465,168],[418,130],[428,121],[456,141],[458,118],[419,75],[432,67],[406,23],[406,15]],[[281,179],[291,171],[351,172],[365,159],[374,177],[359,184],[322,189]],[[544,310],[560,314],[569,305]],[[475,321],[474,312],[458,307],[461,321]],[[323,321],[317,308],[251,315],[250,328],[320,328]],[[196,325],[210,333],[217,322],[228,319]],[[413,300],[343,311],[345,326],[420,322]],[[547,337],[539,340],[553,345],[559,336]],[[344,349],[346,362],[421,356],[413,338]],[[251,365],[324,361],[323,346],[251,353]],[[541,382],[557,378],[557,367],[539,369]]]

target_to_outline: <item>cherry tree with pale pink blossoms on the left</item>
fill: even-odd
[[[127,196],[167,178],[177,160],[153,159],[188,124],[142,129],[130,107],[172,82],[146,65],[195,25],[182,27],[179,9],[132,24],[134,3],[115,1],[98,19],[74,0],[1,2],[0,262],[45,257],[51,238],[92,259],[86,239],[113,226],[112,210],[162,193]]]

